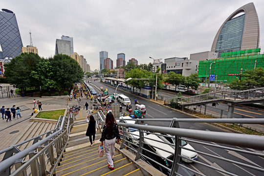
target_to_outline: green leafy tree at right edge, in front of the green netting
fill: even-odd
[[[238,90],[264,87],[264,68],[258,67],[244,71],[241,75],[241,80],[233,80],[229,87]]]

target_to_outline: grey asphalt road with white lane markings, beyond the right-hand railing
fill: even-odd
[[[99,80],[92,82],[93,85],[96,87],[104,87],[108,88],[109,94],[115,92],[115,88],[112,88],[108,85],[105,85],[103,83],[100,83]],[[124,92],[122,90],[117,90],[117,93],[123,93],[124,95],[130,97],[132,100],[132,105],[133,105],[133,99],[136,97],[139,100],[139,104],[144,104],[147,109],[146,116],[144,118],[191,118],[188,115],[181,114],[179,112],[176,112],[174,110],[170,110],[169,108],[165,108],[163,106],[157,105],[153,102],[150,102],[149,100],[146,100],[144,98],[141,98],[139,96],[132,95],[130,93]],[[213,111],[213,109],[212,109]],[[239,111],[239,110],[238,110]],[[243,113],[246,113],[246,111],[243,111]],[[250,113],[250,112],[247,112]],[[252,113],[252,112],[251,112]],[[146,122],[146,121],[145,121]],[[148,122],[149,125],[157,125],[155,122]],[[226,132],[223,129],[220,129],[218,127],[215,127],[213,125],[205,124],[205,123],[179,123],[180,128],[185,128],[185,129],[194,129],[194,130],[204,130],[204,131],[214,131],[214,132]],[[169,123],[159,123],[158,126],[169,126]],[[264,158],[261,157],[254,157],[254,156],[248,156],[247,154],[238,154],[236,152],[230,152],[228,150],[223,150],[223,149],[218,149],[218,148],[212,148],[210,146],[202,146],[198,145],[196,143],[191,143],[190,144],[198,151],[204,152],[207,154],[213,154],[217,155],[219,157],[223,158],[229,158],[229,159],[234,159],[236,161],[242,162],[242,163],[251,163],[254,166],[261,166],[264,168]],[[214,143],[215,144],[215,143]],[[222,145],[222,144],[220,144]],[[242,149],[242,148],[240,148]],[[243,149],[246,151],[250,151],[251,149]],[[263,151],[258,151],[259,153],[264,153]],[[198,160],[202,163],[205,163],[207,165],[215,166],[218,168],[223,168],[224,170],[227,171],[232,171],[235,173],[239,173],[240,176],[260,176],[263,175],[263,173],[259,173],[255,170],[251,170],[248,168],[244,168],[242,166],[239,166],[237,164],[230,164],[226,163],[222,160],[218,160],[206,155],[201,155],[198,154]],[[186,166],[188,166],[191,169],[194,169],[206,176],[226,176],[225,174],[222,174],[218,171],[212,171],[209,170],[207,167],[202,166],[197,163],[184,163]]]

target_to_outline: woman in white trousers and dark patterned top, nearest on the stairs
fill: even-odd
[[[103,127],[103,132],[100,139],[101,141],[100,146],[103,146],[105,141],[105,150],[108,161],[108,168],[110,170],[114,170],[113,156],[114,156],[115,139],[117,139],[117,142],[119,142],[120,135],[118,132],[118,126],[116,124],[114,116],[111,112],[109,112],[106,115],[106,124]]]

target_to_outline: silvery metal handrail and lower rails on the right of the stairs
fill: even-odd
[[[119,119],[120,121],[122,119]],[[136,121],[136,119],[126,119],[126,120],[134,120]],[[178,125],[178,122],[197,122],[197,123],[244,123],[244,124],[264,124],[264,119],[144,119],[144,121],[171,121],[171,127],[174,125]],[[176,124],[174,124],[176,123]],[[166,168],[167,171],[169,171],[171,174],[171,176],[176,176],[179,175],[177,173],[178,167],[184,167],[187,170],[190,170],[196,174],[199,175],[203,175],[201,173],[198,173],[197,171],[194,171],[192,169],[189,169],[187,167],[185,167],[184,165],[180,164],[180,158],[185,158],[185,159],[190,159],[187,158],[186,156],[183,156],[180,154],[181,148],[185,149],[185,150],[189,150],[189,151],[193,151],[191,149],[187,149],[185,147],[181,147],[181,142],[180,140],[186,140],[189,142],[194,142],[197,143],[201,146],[205,146],[208,145],[210,147],[217,147],[220,149],[224,149],[224,150],[230,150],[230,151],[235,151],[235,152],[241,152],[241,153],[245,153],[245,154],[250,154],[253,156],[260,156],[260,157],[264,157],[264,154],[260,154],[258,152],[253,152],[253,151],[243,151],[240,147],[246,147],[249,149],[255,149],[255,150],[264,150],[264,136],[260,136],[260,135],[249,135],[249,134],[242,134],[242,133],[230,133],[230,132],[208,132],[208,131],[201,131],[201,130],[190,130],[190,129],[179,129],[179,128],[168,128],[168,127],[160,127],[160,126],[145,126],[145,125],[138,125],[138,124],[131,124],[131,123],[122,123],[122,122],[118,122],[117,123],[119,126],[123,127],[124,131],[123,131],[123,140],[122,140],[122,144],[120,146],[120,149],[123,148],[127,148],[130,150],[135,150],[132,148],[131,145],[137,146],[136,144],[132,144],[132,142],[130,142],[127,139],[130,139],[131,136],[127,136],[127,135],[132,135],[132,133],[127,132],[127,129],[129,128],[133,128],[133,129],[138,129],[140,131],[140,138],[139,138],[139,146],[138,149],[135,151],[136,156],[135,156],[135,160],[141,158],[143,160],[145,160],[146,158],[149,161],[154,162],[155,164],[159,165],[162,168]],[[146,143],[144,142],[144,138],[148,138],[148,135],[144,135],[144,133],[151,133],[151,134],[155,134],[156,135],[160,135],[160,136],[164,136],[163,134],[170,134],[172,135],[172,137],[175,138],[176,143],[175,143],[175,157],[173,160],[173,164],[172,164],[172,168],[167,168],[164,167],[164,165],[156,162],[153,158],[150,158],[148,156],[146,156],[145,154],[143,154],[143,151],[148,151],[149,153],[153,154],[153,155],[158,155],[153,153],[152,151],[149,151],[147,148],[144,147],[144,145],[146,145]],[[163,133],[163,134],[159,134],[159,133]],[[180,137],[179,137],[180,136]],[[182,138],[184,137],[184,138]],[[187,138],[187,139],[185,139]],[[179,139],[177,141],[177,139]],[[200,140],[202,141],[207,141],[207,143],[205,142],[200,142]],[[155,141],[155,140],[154,140]],[[208,142],[211,142],[213,144],[208,144]],[[161,142],[161,143],[166,143],[166,142]],[[231,147],[226,147],[226,146],[220,146],[218,144],[214,144],[214,143],[218,143],[218,144],[226,144],[226,145],[231,145],[234,148]],[[144,144],[144,145],[143,145]],[[167,143],[169,146],[171,146],[171,143]],[[150,146],[150,147],[154,147],[154,146]],[[239,148],[237,148],[239,147]],[[157,147],[155,147],[157,148]],[[159,150],[164,150],[162,148],[157,148]],[[164,150],[165,151],[165,150]],[[165,151],[168,153],[168,151]],[[199,152],[199,151],[193,151],[193,152],[197,152],[198,154],[204,154],[203,152]],[[171,153],[171,152],[169,152]],[[256,171],[260,171],[260,172],[264,172],[264,169],[260,166],[260,167],[256,167],[256,166],[251,166],[247,163],[240,163],[237,162],[235,160],[231,160],[230,158],[220,158],[219,156],[215,156],[212,154],[204,154],[204,155],[208,155],[210,157],[214,157],[217,159],[221,159],[224,162],[228,162],[228,163],[236,163],[238,165],[241,165],[243,167],[248,167],[250,169],[254,169]],[[161,155],[158,155],[159,157],[162,157]],[[164,158],[164,157],[163,157]],[[164,158],[165,159],[165,158]],[[170,159],[166,159],[167,161],[171,161]],[[225,174],[228,175],[236,175],[236,174],[232,174],[228,171],[225,171],[224,168],[223,169],[219,169],[216,168],[214,166],[208,165],[208,164],[204,164],[202,162],[199,161],[194,161],[200,165],[206,166],[209,169],[213,169],[213,170],[217,170],[220,172],[223,172]],[[235,172],[235,171],[234,171]]]

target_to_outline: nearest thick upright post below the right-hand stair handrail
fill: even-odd
[[[174,159],[173,159],[173,165],[172,165],[172,171],[170,176],[176,176],[175,172],[178,171],[179,166],[177,163],[180,163],[180,154],[181,154],[181,140],[178,136],[175,136],[175,151],[174,151]]]

